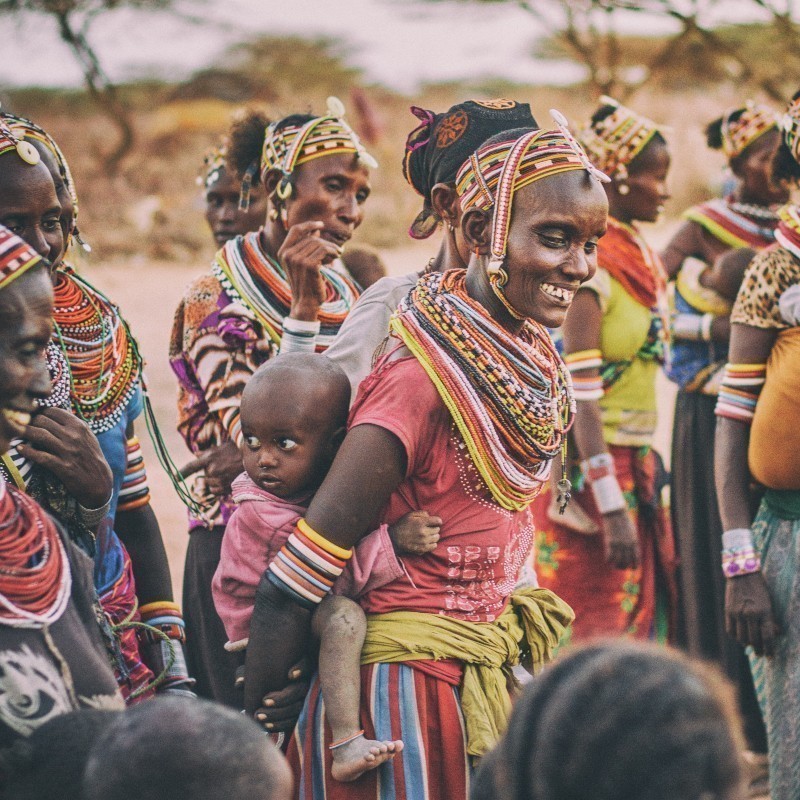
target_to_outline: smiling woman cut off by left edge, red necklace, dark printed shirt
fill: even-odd
[[[45,263],[0,226],[0,455],[50,394]],[[98,615],[91,561],[0,476],[0,749],[73,709],[122,706]]]

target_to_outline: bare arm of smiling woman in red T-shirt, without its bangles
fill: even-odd
[[[406,473],[400,440],[377,425],[352,428],[306,514],[306,522],[328,541],[351,548],[372,530]],[[245,661],[245,709],[252,715],[266,694],[286,685],[310,638],[312,612],[267,578],[256,590]]]

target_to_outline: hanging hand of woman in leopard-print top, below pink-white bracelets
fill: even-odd
[[[772,600],[760,572],[727,578],[725,582],[725,630],[756,655],[771,656],[780,633]]]

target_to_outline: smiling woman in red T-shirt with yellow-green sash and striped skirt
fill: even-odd
[[[276,558],[256,592],[250,713],[306,649],[320,577],[340,573],[376,522],[417,509],[442,521],[433,551],[404,556],[401,578],[359,600],[367,635],[351,736],[404,749],[346,787],[332,781],[339,743],[313,686],[289,752],[300,796],[314,800],[464,800],[470,757],[505,725],[503,667],[523,653],[541,664],[572,618],[552,593],[514,588],[533,543],[527,506],[574,408],[546,326],[562,324],[595,269],[607,202],[566,129],[492,137],[456,185],[469,266],[423,278],[401,304],[400,341],[362,383],[344,443],[285,546],[311,541],[315,557],[293,567]],[[301,582],[318,588],[298,598]]]

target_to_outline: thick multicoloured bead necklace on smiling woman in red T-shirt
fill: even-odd
[[[469,297],[465,270],[421,278],[391,328],[422,365],[495,502],[519,511],[548,479],[575,416],[572,383],[547,330],[516,336]]]

